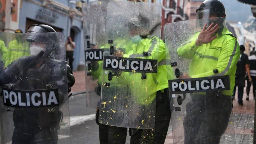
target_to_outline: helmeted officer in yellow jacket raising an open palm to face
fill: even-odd
[[[205,0],[196,12],[202,30],[177,49],[180,57],[191,60],[188,72],[181,72],[179,78],[229,76],[230,89],[208,91],[210,86],[205,87],[203,83],[203,91],[191,93],[192,100],[186,105],[183,121],[184,144],[219,144],[230,124],[239,44],[225,28],[225,8],[221,2]],[[207,22],[203,23],[204,20]]]

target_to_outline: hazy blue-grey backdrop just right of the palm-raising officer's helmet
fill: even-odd
[[[226,9],[227,22],[246,22],[252,16],[251,6],[237,0],[220,0]]]

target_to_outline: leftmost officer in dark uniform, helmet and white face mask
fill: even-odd
[[[65,58],[63,35],[48,25],[35,24],[21,36],[29,42],[31,56],[15,60],[0,75],[4,110],[13,112],[12,144],[57,144],[57,132],[63,129],[60,123],[69,116],[60,108],[68,105],[68,92],[75,82],[70,67],[60,60]],[[19,103],[7,97],[11,91],[20,91]],[[26,103],[22,92],[26,92]]]

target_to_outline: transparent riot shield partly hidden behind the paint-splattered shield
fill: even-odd
[[[96,108],[100,101],[107,1],[83,5],[86,106]]]

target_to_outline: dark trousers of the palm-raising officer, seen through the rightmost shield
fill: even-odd
[[[219,144],[232,111],[231,96],[192,94],[186,105],[184,144]]]

